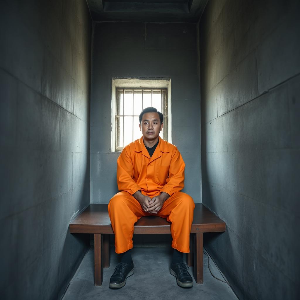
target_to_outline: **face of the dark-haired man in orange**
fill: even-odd
[[[144,113],[142,122],[139,125],[144,140],[155,140],[163,129],[164,123],[161,123],[158,113]]]

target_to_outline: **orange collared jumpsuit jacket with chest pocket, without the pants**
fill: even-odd
[[[161,192],[172,196],[184,187],[182,156],[176,146],[160,137],[151,158],[141,137],[123,149],[117,165],[118,188],[131,195],[141,190],[151,198]]]

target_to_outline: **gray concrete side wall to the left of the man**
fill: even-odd
[[[59,299],[87,250],[91,18],[85,1],[1,1],[0,295]]]

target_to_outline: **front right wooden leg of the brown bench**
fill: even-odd
[[[203,283],[203,233],[194,235],[194,279]]]

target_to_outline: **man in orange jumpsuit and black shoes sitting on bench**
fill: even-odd
[[[118,158],[120,192],[110,199],[108,212],[121,262],[110,278],[110,288],[124,286],[126,278],[134,273],[130,253],[134,223],[149,215],[171,222],[174,252],[170,272],[179,286],[193,286],[188,266],[183,263],[183,254],[190,252],[195,204],[189,195],[180,192],[184,187],[185,164],[178,149],[159,137],[163,119],[163,114],[154,107],[142,110],[139,126],[143,136],[127,145]]]

